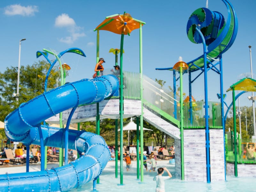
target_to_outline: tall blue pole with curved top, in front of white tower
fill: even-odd
[[[204,35],[202,32],[196,28],[197,32],[202,38],[204,45],[204,108],[205,108],[205,148],[206,148],[206,173],[207,173],[207,183],[211,182],[211,164],[210,164],[210,130],[209,130],[209,115],[208,115],[208,87],[207,87],[207,54],[206,54],[206,44]]]

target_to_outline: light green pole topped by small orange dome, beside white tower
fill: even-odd
[[[180,158],[181,180],[184,180],[184,140],[183,140],[183,79],[182,67],[180,67]]]

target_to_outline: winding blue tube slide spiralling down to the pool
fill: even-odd
[[[64,129],[41,125],[45,119],[81,104],[99,102],[118,93],[116,76],[108,75],[68,83],[23,103],[4,120],[6,136],[26,145],[64,147]],[[67,165],[40,172],[0,175],[0,191],[67,191],[96,179],[105,168],[110,152],[97,134],[69,130],[68,148],[84,155]]]

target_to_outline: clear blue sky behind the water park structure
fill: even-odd
[[[7,1],[0,3],[0,71],[18,66],[19,40],[21,43],[20,65],[37,62],[36,51],[43,48],[57,52],[71,47],[82,49],[86,58],[67,53],[62,57],[71,70],[67,81],[91,78],[96,64],[96,28],[106,16],[130,13],[135,19],[146,22],[142,27],[143,74],[155,80],[162,79],[172,85],[171,71],[156,71],[155,68],[172,67],[182,56],[185,62],[200,56],[202,44],[188,40],[186,26],[192,12],[205,7],[206,0],[179,1]],[[252,68],[256,78],[255,0],[230,0],[238,17],[238,34],[233,46],[223,54],[224,92],[238,79],[251,74],[248,46],[252,46]],[[227,19],[227,9],[221,0],[209,0],[211,11],[221,12]],[[120,35],[100,31],[100,57],[106,60],[105,68],[113,68],[115,56],[110,48],[120,48]],[[139,72],[139,30],[124,37],[124,70]],[[53,59],[53,57],[50,57]],[[119,58],[118,58],[119,59]],[[39,58],[43,60],[43,58]],[[219,76],[208,72],[208,98],[218,101]],[[183,76],[184,92],[188,94],[188,75]],[[192,85],[196,100],[204,99],[203,76]],[[240,106],[252,106],[246,93],[240,97]],[[232,102],[232,92],[227,93],[226,102]]]

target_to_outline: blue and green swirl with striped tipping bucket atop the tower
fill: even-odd
[[[202,43],[196,27],[204,35],[207,45],[207,57],[213,61],[226,52],[236,39],[238,23],[235,10],[228,0],[222,0],[228,10],[228,19],[219,12],[212,12],[207,8],[199,8],[189,17],[187,23],[188,39],[193,43]],[[209,62],[208,61],[208,62]],[[204,66],[204,55],[187,62],[189,70],[194,71]]]

